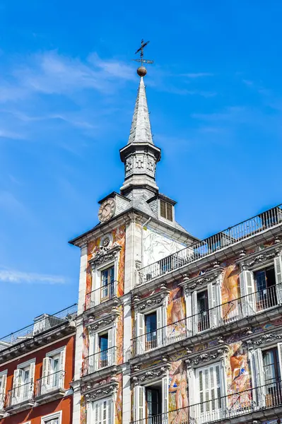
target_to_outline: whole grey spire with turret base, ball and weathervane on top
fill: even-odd
[[[141,47],[136,52],[141,52],[141,59],[134,59],[141,62],[141,66],[137,69],[140,76],[139,89],[129,140],[127,146],[122,148],[119,153],[124,163],[124,184],[120,189],[121,193],[129,199],[148,200],[158,193],[158,186],[155,182],[155,165],[160,160],[160,148],[153,144],[143,81],[143,77],[147,73],[143,63],[153,63],[151,60],[143,59],[143,47],[146,45],[148,42],[144,43],[142,40]]]

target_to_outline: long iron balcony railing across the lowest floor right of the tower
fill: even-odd
[[[219,420],[230,420],[233,417],[244,416],[247,413],[264,411],[267,408],[282,406],[280,381],[227,396],[220,396],[220,394],[221,388],[218,387],[211,391],[211,399],[208,401],[175,409],[175,411],[148,415],[146,418],[132,421],[131,424],[214,423]],[[147,415],[144,412],[143,415]]]

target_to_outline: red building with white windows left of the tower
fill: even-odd
[[[77,305],[0,339],[0,423],[71,424]]]

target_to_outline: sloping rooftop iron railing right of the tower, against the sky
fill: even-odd
[[[209,254],[218,252],[218,250],[269,230],[269,228],[273,228],[280,223],[282,223],[282,204],[218,232],[201,242],[184,247],[184,249],[170,254],[168,257],[160,259],[153,264],[144,266],[138,271],[136,285],[147,283],[165,273],[179,269],[184,265],[207,257]]]

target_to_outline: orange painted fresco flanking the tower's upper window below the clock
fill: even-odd
[[[125,225],[121,225],[118,228],[115,228],[111,232],[112,243],[117,243],[122,246],[122,249],[119,253],[119,265],[118,265],[118,275],[117,281],[117,295],[122,296],[124,294],[124,257],[125,257]],[[87,259],[90,259],[95,256],[95,254],[100,249],[101,238],[93,240],[88,243],[87,247]],[[86,269],[86,295],[92,290],[92,275],[91,275],[91,266],[88,264]]]

